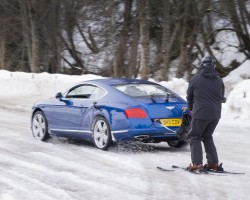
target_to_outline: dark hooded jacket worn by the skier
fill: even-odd
[[[188,108],[193,119],[217,120],[221,117],[224,83],[214,67],[206,66],[193,76],[187,89]]]

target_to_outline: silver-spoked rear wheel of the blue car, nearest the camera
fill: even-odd
[[[93,142],[98,149],[106,150],[111,145],[109,123],[104,117],[98,116],[93,122]]]

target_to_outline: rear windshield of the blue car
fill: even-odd
[[[131,97],[171,97],[177,98],[178,95],[171,90],[154,84],[124,84],[114,86],[119,91]]]

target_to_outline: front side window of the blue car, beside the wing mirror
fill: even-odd
[[[80,85],[71,89],[66,98],[89,98],[97,87],[94,85]]]

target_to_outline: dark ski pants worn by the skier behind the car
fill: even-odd
[[[218,163],[218,155],[213,141],[213,132],[219,120],[192,119],[189,132],[191,160],[193,164],[203,164],[202,144],[204,144],[207,163]]]

